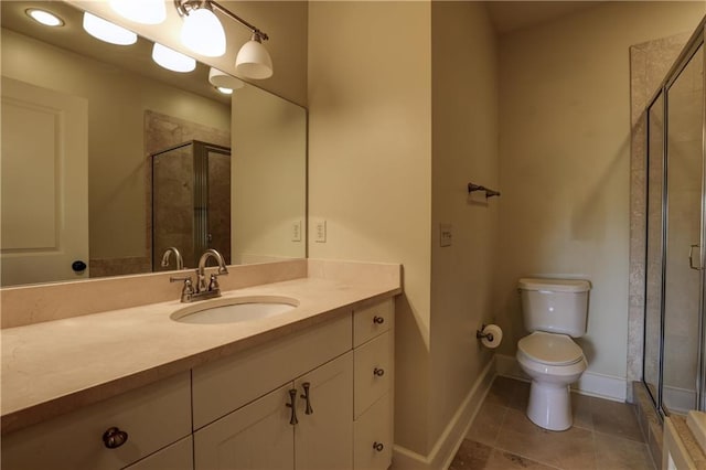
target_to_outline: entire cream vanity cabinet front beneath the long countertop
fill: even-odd
[[[394,301],[323,318],[2,436],[1,467],[387,469]]]

